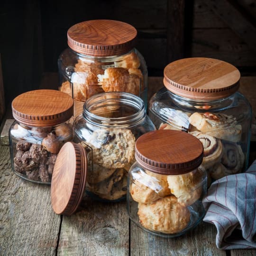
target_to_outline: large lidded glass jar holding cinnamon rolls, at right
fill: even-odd
[[[182,130],[204,146],[202,165],[213,180],[248,166],[252,110],[238,92],[240,73],[217,59],[186,58],[168,64],[165,87],[149,103],[157,129]]]

